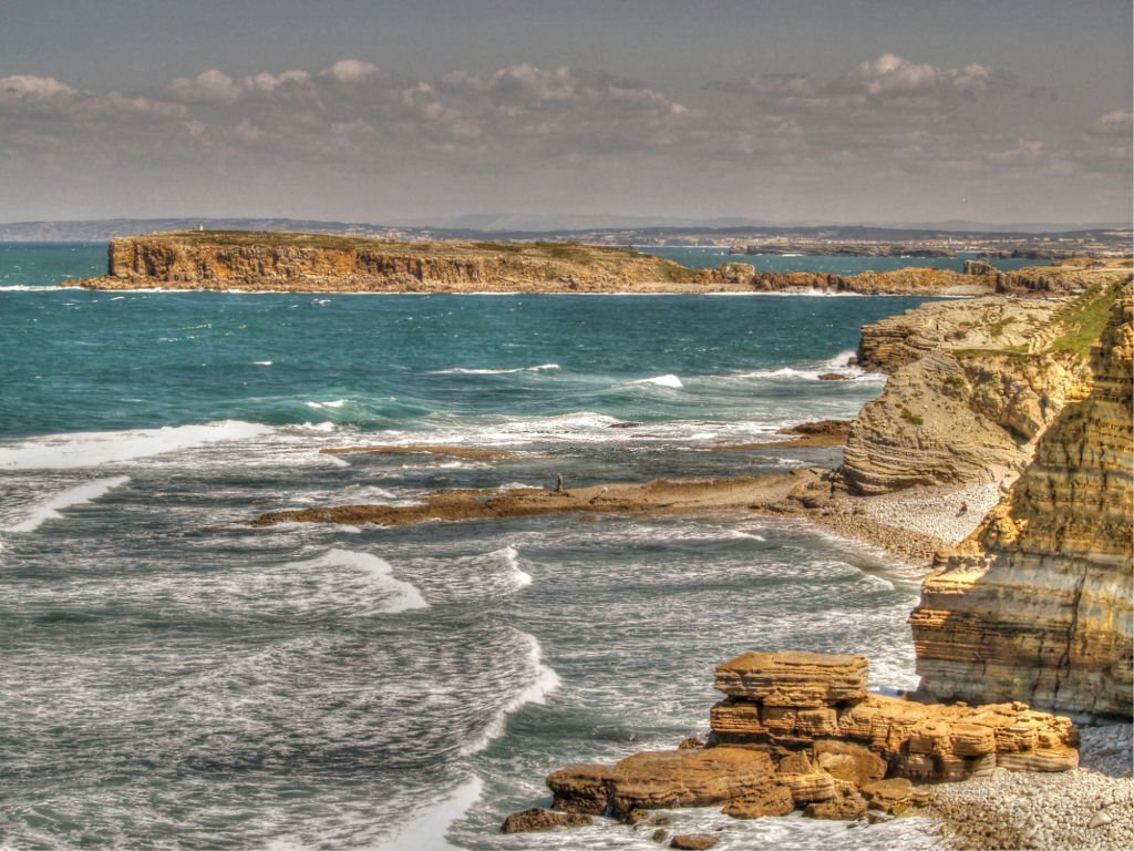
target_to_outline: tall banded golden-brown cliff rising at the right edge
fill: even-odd
[[[922,690],[936,699],[1131,716],[1129,293],[1093,352],[1090,395],[1063,411],[1006,502],[925,580],[911,624]]]

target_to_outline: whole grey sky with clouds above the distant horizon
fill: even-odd
[[[0,0],[0,221],[1126,221],[1129,0]]]

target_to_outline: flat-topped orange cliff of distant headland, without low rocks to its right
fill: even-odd
[[[393,243],[324,234],[197,233],[113,239],[99,288],[310,292],[602,292],[692,286],[677,263],[561,243]]]

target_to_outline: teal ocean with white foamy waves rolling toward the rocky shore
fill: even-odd
[[[0,848],[655,848],[499,826],[558,767],[703,735],[745,650],[915,685],[917,576],[798,522],[243,521],[829,464],[714,449],[853,416],[882,388],[845,366],[860,327],[919,300],[54,286],[104,255],[0,245]],[[373,444],[510,455],[320,453]],[[919,819],[670,815],[726,851],[932,846]]]

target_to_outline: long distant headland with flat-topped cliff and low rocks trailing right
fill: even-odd
[[[1118,261],[1112,261],[1118,262]],[[750,263],[689,269],[631,248],[559,242],[397,242],[280,231],[188,230],[110,241],[108,271],[67,281],[93,289],[311,293],[857,293],[1058,295],[1081,292],[1102,261],[998,272],[899,269],[839,276],[758,272]]]

